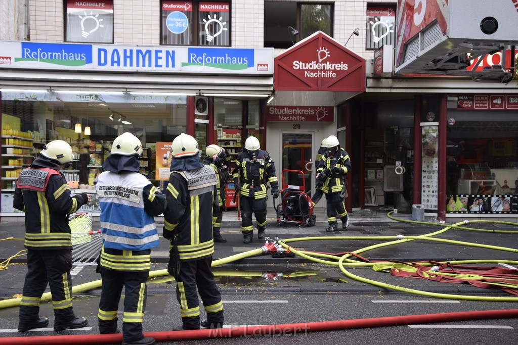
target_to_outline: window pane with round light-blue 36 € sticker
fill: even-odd
[[[191,1],[162,2],[162,44],[192,45],[193,3]]]

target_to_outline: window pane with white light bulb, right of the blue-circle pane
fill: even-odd
[[[230,45],[230,6],[222,2],[200,2],[198,41],[200,46]]]

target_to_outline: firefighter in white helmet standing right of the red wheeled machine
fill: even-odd
[[[317,171],[319,180],[323,182],[322,190],[327,202],[328,227],[326,231],[338,231],[337,214],[342,221],[342,229],[347,229],[349,226],[344,191],[346,190],[345,176],[351,171],[351,160],[349,154],[340,147],[335,136],[329,136],[325,145],[327,152],[322,156]]]

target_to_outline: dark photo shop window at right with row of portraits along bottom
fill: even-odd
[[[518,213],[516,116],[449,109],[448,118],[447,212]]]

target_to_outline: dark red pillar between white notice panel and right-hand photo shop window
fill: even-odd
[[[446,220],[446,125],[448,96],[439,96],[439,138],[438,138],[438,175],[437,175],[437,219]]]

